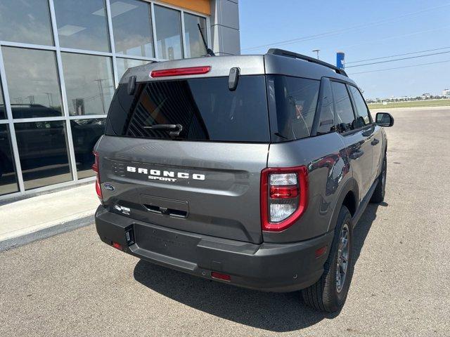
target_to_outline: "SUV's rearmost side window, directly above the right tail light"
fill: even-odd
[[[276,120],[283,139],[311,136],[320,83],[315,79],[274,76]]]

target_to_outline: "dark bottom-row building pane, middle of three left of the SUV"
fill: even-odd
[[[14,125],[25,190],[72,180],[64,121]]]

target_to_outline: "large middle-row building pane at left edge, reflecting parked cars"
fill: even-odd
[[[13,118],[62,116],[54,51],[2,47]]]

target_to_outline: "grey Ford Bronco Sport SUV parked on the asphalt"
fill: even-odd
[[[387,139],[354,81],[271,49],[124,74],[94,147],[103,242],[165,267],[332,312],[354,226],[383,201]]]

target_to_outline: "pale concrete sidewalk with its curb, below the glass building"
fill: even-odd
[[[0,251],[89,225],[99,204],[94,183],[0,206]]]

